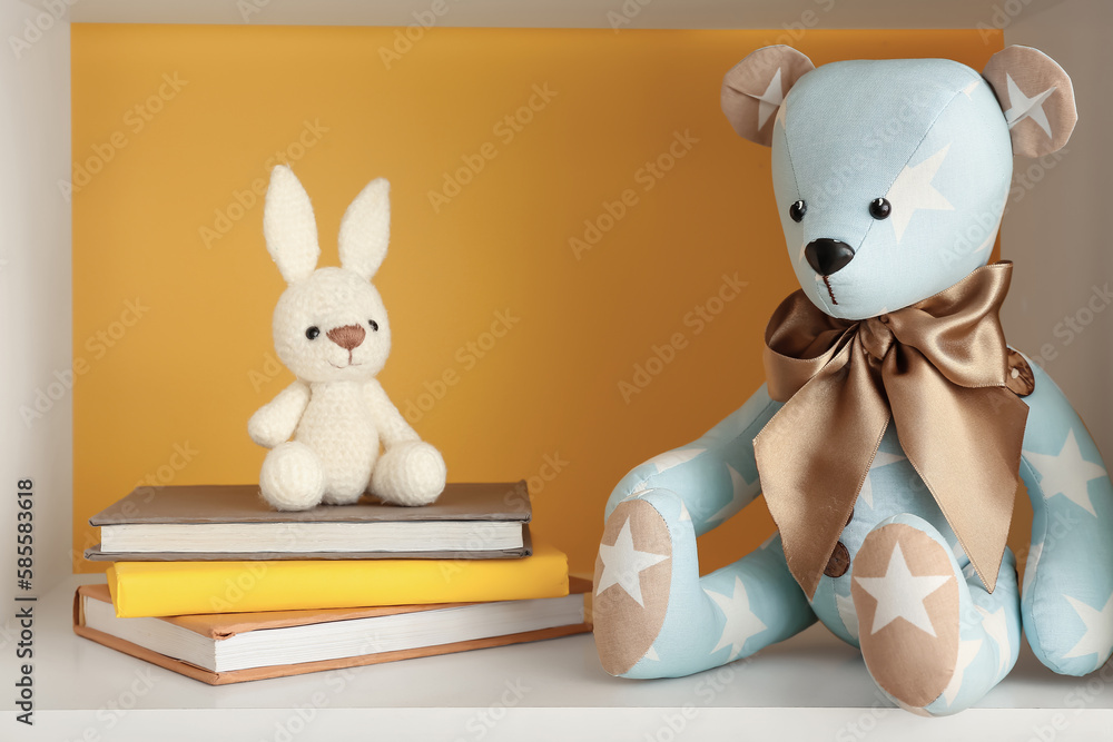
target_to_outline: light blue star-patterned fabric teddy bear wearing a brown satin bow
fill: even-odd
[[[1066,144],[1071,80],[1026,47],[818,69],[785,46],[725,77],[737,133],[772,148],[800,290],[766,330],[766,385],[614,488],[594,633],[623,677],[687,675],[817,619],[922,715],[1009,672],[1021,627],[1057,673],[1113,650],[1113,486],[1051,378],[1005,344],[1012,265],[986,265],[1013,155]],[[1034,508],[1023,590],[1005,538]],[[778,532],[700,576],[696,537],[762,493]]]

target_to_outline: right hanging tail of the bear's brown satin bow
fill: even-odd
[[[895,367],[888,364],[883,372],[900,445],[992,593],[1016,498],[1028,407],[1005,387],[958,387],[923,356],[908,360],[900,374],[890,374]]]

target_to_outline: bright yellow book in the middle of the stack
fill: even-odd
[[[117,562],[108,587],[120,619],[516,601],[568,595],[568,557]]]

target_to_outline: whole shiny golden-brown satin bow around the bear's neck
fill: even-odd
[[[900,445],[993,592],[1013,514],[1028,408],[1005,386],[997,311],[1013,266],[984,266],[897,311],[853,321],[802,290],[766,329],[769,396],[754,439],[788,567],[815,595],[889,417]],[[913,486],[913,483],[909,483]]]

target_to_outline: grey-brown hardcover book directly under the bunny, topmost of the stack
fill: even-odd
[[[525,482],[453,483],[403,507],[270,509],[256,485],[140,487],[89,518],[92,561],[514,558],[532,553]]]

